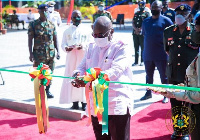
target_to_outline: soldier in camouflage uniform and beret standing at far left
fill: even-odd
[[[55,25],[48,21],[46,4],[38,6],[40,17],[29,24],[28,27],[28,45],[30,52],[30,61],[33,66],[37,67],[40,63],[47,64],[50,69],[54,70],[55,49],[57,50],[57,59],[60,58],[57,47],[57,33]],[[34,46],[32,48],[34,39]],[[46,87],[47,98],[54,96],[49,92],[50,85]]]

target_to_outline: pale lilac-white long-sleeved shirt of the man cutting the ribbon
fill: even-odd
[[[78,71],[83,75],[88,68],[99,67],[111,81],[131,82],[133,76],[131,59],[129,47],[121,41],[110,42],[104,48],[91,43],[84,59],[74,72]],[[110,83],[108,94],[108,115],[125,115],[127,108],[132,114],[133,90],[131,85]],[[90,107],[91,114],[94,115],[92,94],[90,94]]]

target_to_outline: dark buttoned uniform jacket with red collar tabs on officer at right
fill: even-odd
[[[191,40],[194,24],[187,23],[182,34],[174,24],[164,30],[164,48],[169,53],[166,75],[169,80],[183,82],[186,69],[198,54],[198,45]]]

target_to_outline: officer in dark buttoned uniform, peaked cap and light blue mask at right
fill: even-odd
[[[184,83],[186,69],[199,52],[198,45],[191,40],[191,34],[194,31],[194,25],[189,22],[191,7],[187,4],[181,4],[176,9],[176,24],[168,27],[164,31],[164,45],[169,55],[166,75],[168,83],[177,85]],[[175,98],[170,99],[171,108],[176,106],[186,106],[185,102],[178,101]],[[172,111],[172,115],[175,112]],[[182,134],[174,133],[171,139],[178,139]],[[181,132],[182,133],[182,132]],[[182,139],[189,140],[188,135],[182,136]]]

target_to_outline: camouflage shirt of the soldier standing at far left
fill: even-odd
[[[40,19],[29,24],[28,35],[34,38],[33,56],[36,62],[53,60],[55,47],[53,36],[57,35],[55,25],[50,21],[42,22]]]

